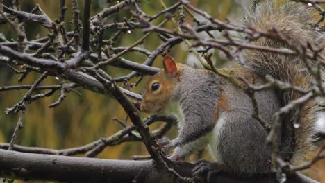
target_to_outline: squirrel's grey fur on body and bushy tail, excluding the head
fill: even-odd
[[[256,12],[247,14],[244,24],[262,30],[274,26],[297,45],[316,40],[319,33],[306,24],[310,22],[310,11],[299,3],[286,0],[283,2],[283,6],[280,7],[274,7],[274,1],[267,0],[259,3]],[[267,38],[260,38],[252,44],[276,48],[285,46]],[[251,75],[264,77],[265,74],[269,74],[278,80],[294,83],[302,88],[309,88],[312,82],[310,75],[302,71],[303,65],[299,58],[254,50],[244,51],[244,58],[247,62],[245,66],[255,72]],[[171,143],[171,146],[176,146],[172,156],[183,159],[208,144],[215,160],[224,164],[233,173],[269,173],[271,151],[265,144],[267,132],[252,117],[251,98],[244,94],[242,89],[210,71],[184,67],[181,74],[171,100],[181,105],[184,121],[180,121],[178,137]],[[260,85],[263,82],[264,80],[257,78],[255,84]],[[226,110],[216,109],[222,94],[226,94],[228,105]],[[256,92],[260,116],[272,125],[274,113],[281,106],[287,105],[289,101],[300,96],[292,91]],[[296,152],[293,158],[308,150],[309,137],[313,135],[315,103],[311,101],[307,105],[309,108],[302,109],[306,115],[299,119],[301,128],[295,131],[294,140],[297,147],[291,149]],[[219,114],[216,114],[216,111]],[[291,113],[288,119],[292,119],[293,114]],[[290,120],[286,122],[291,125]],[[281,139],[279,134],[280,154],[284,150],[281,148],[283,140],[292,143],[292,139]]]

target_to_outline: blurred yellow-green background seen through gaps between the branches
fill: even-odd
[[[201,8],[208,12],[211,16],[217,19],[224,20],[226,17],[231,21],[239,21],[242,15],[244,7],[249,6],[249,0],[245,1],[231,1],[231,0],[195,0],[191,1],[194,6]],[[4,4],[11,5],[11,0],[4,0]],[[22,10],[30,12],[35,4],[39,4],[42,10],[52,19],[56,19],[59,16],[60,7],[59,1],[49,0],[22,0],[20,1]],[[83,16],[83,1],[78,1],[78,5],[81,11],[81,19]],[[116,2],[115,2],[116,3]],[[92,0],[92,15],[100,12],[103,8],[112,6],[115,3],[106,3],[106,0]],[[167,6],[171,6],[175,3],[174,0],[165,0]],[[142,10],[147,12],[148,15],[155,15],[156,12],[163,10],[158,1],[141,1]],[[66,1],[67,12],[65,16],[65,28],[67,31],[73,30],[72,24],[72,4],[71,1]],[[129,18],[131,15],[121,10],[111,19],[112,21],[123,21],[123,18]],[[177,17],[176,17],[177,18]],[[165,19],[164,16],[154,21],[154,24],[159,24]],[[187,16],[187,21],[192,19]],[[165,25],[167,28],[172,28],[172,24]],[[104,39],[108,40],[117,30],[110,29],[105,32]],[[3,33],[7,40],[16,40],[16,35],[12,28],[8,24],[0,24],[0,33]],[[47,36],[48,30],[39,26],[38,24],[28,23],[26,25],[26,35],[28,40],[35,40],[39,37]],[[143,36],[141,30],[135,30],[134,33],[125,33],[117,40],[117,46],[129,46],[133,42],[140,39]],[[158,38],[156,33],[151,34],[144,44],[141,46],[149,51],[153,51],[163,42]],[[187,62],[192,60],[192,56],[188,53],[188,47],[185,44],[178,44],[175,46],[170,55],[174,56],[177,62]],[[124,55],[124,58],[132,60],[133,62],[142,63],[147,59],[146,56],[139,53],[131,52]],[[161,57],[158,57],[155,67],[162,67]],[[224,64],[223,55],[215,51],[214,58],[217,65]],[[192,62],[188,62],[192,64]],[[117,69],[115,67],[108,68],[109,73],[112,76],[124,76],[130,71],[124,69]],[[8,85],[31,85],[40,75],[37,73],[30,73],[23,80],[22,83],[18,82],[19,75],[16,75],[9,67],[0,64],[0,87]],[[136,88],[132,88],[133,92],[141,92],[147,79],[144,80]],[[138,78],[131,80],[135,82]],[[41,85],[59,85],[58,80],[55,78],[47,78]],[[126,113],[122,107],[112,98],[103,96],[94,92],[87,91],[85,89],[77,88],[81,96],[75,92],[69,92],[67,97],[57,107],[49,108],[48,105],[55,102],[58,99],[56,94],[49,98],[42,98],[38,101],[34,101],[31,105],[28,105],[26,110],[26,116],[24,118],[24,128],[19,133],[19,137],[16,141],[17,144],[22,146],[38,146],[44,148],[62,149],[72,148],[76,146],[82,146],[86,143],[95,141],[101,137],[108,137],[123,127],[113,118],[124,120]],[[0,92],[0,143],[9,142],[12,132],[18,120],[17,114],[6,115],[4,111],[8,107],[12,107],[15,103],[21,101],[27,90],[12,90],[6,92]],[[37,92],[34,92],[37,94]],[[146,114],[142,114],[146,116]],[[131,125],[131,122],[127,122]],[[157,128],[160,124],[154,124],[151,128]],[[176,129],[171,130],[168,133],[170,138],[175,137]],[[122,143],[119,146],[108,147],[97,157],[106,159],[132,159],[133,155],[147,155],[147,150],[140,142]],[[206,153],[203,153],[203,157],[209,158]],[[194,158],[193,158],[194,159]],[[325,182],[325,161],[318,162],[309,171],[305,171],[307,175],[313,177],[319,182]],[[15,181],[19,182],[19,181]],[[22,181],[20,181],[22,182]]]

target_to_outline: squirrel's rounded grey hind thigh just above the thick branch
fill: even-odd
[[[229,112],[222,124],[219,141],[212,150],[219,155],[218,162],[233,173],[269,173],[271,150],[265,143],[267,132],[263,126],[249,112],[242,111]]]

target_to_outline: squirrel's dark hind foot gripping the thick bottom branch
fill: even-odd
[[[205,159],[199,159],[194,163],[192,175],[201,182],[210,182],[215,173],[225,172],[226,167],[217,162],[209,162]]]

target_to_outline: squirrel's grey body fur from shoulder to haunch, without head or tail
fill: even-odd
[[[178,137],[174,139],[174,144],[178,147],[172,156],[177,155],[184,159],[209,145],[214,157],[219,154],[215,160],[233,173],[269,172],[271,154],[265,144],[267,132],[252,117],[251,98],[244,94],[242,89],[214,73],[203,73],[190,67],[185,67],[182,73],[183,76],[174,89],[173,100],[180,102],[185,123],[180,126]],[[256,84],[261,83],[262,81],[258,80]],[[215,106],[222,92],[226,94],[231,110],[218,115],[224,116],[222,120],[225,120],[225,123],[217,134],[219,144],[215,146],[211,140],[215,138],[212,130],[219,125],[218,119],[215,119]],[[260,115],[271,124],[274,121],[274,112],[280,107],[276,92],[257,92],[256,99]]]

